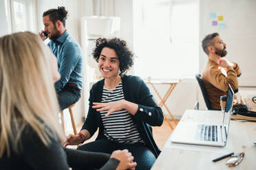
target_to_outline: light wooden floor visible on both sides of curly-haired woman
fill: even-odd
[[[175,123],[173,123],[173,121],[171,121],[171,125],[173,125],[175,127]],[[82,125],[78,125],[78,127],[76,129],[79,131],[79,130],[81,130],[81,127],[82,127]],[[169,138],[171,132],[173,132],[173,130],[171,130],[171,127],[169,126],[167,121],[164,121],[164,123],[160,127],[153,127],[153,138],[155,139],[155,141],[156,141],[158,147],[160,147],[160,149],[162,149],[162,147],[164,147],[164,143]],[[66,134],[69,134],[69,133],[66,132]],[[98,134],[98,132],[96,132],[94,134],[94,136],[92,136],[92,138],[90,138],[85,143],[95,141],[97,134]]]

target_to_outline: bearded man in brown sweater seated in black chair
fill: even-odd
[[[211,108],[220,110],[220,96],[226,95],[228,84],[231,84],[234,92],[238,91],[237,77],[241,70],[235,62],[229,62],[226,56],[226,44],[218,33],[209,34],[202,40],[202,48],[208,56],[204,66],[202,80],[204,88],[211,103]]]

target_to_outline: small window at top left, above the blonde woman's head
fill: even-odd
[[[34,0],[10,0],[7,8],[12,32],[36,32]]]

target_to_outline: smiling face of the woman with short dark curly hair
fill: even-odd
[[[104,47],[101,50],[100,57],[98,58],[98,69],[101,75],[105,79],[113,79],[118,77],[120,62],[118,56],[116,56],[116,51],[114,49],[109,49]]]

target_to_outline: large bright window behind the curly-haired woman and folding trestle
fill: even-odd
[[[136,75],[194,77],[199,69],[199,1],[144,0],[139,6],[134,22]]]

